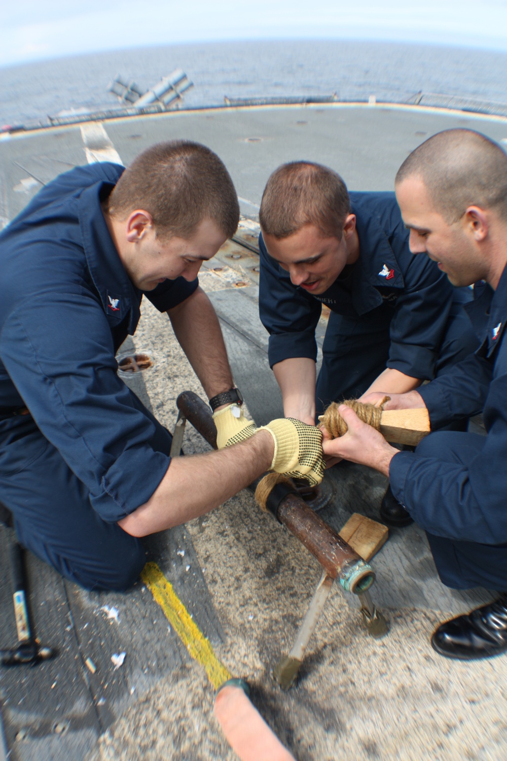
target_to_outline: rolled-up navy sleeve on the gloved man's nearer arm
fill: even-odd
[[[43,435],[90,491],[105,521],[143,505],[170,457],[154,451],[154,423],[119,379],[112,335],[92,295],[53,292],[12,313],[0,355]]]

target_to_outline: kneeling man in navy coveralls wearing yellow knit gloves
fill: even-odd
[[[245,419],[198,287],[238,221],[220,159],[171,141],[126,170],[57,177],[0,234],[0,503],[21,543],[84,587],[127,588],[145,561],[138,537],[207,513],[270,467],[292,469],[278,441],[287,428],[296,473],[322,479],[314,426],[257,431]],[[144,294],[167,312],[214,409],[220,451],[198,463],[171,460],[170,434],[117,374]]]

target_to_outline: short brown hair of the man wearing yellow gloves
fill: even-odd
[[[107,212],[123,219],[135,209],[151,214],[160,237],[189,237],[205,218],[232,237],[239,223],[238,197],[223,162],[187,140],[152,145],[125,169]]]

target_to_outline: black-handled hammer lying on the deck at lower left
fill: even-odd
[[[14,586],[14,616],[16,617],[18,642],[15,648],[0,650],[0,665],[30,664],[35,666],[38,661],[46,661],[47,658],[52,658],[55,651],[52,648],[42,647],[33,638],[27,607],[22,549],[16,540],[11,542],[11,574]]]

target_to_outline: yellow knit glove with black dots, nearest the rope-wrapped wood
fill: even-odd
[[[322,433],[315,425],[293,418],[271,420],[258,431],[269,431],[274,439],[271,470],[292,478],[304,478],[317,486],[324,476]]]

